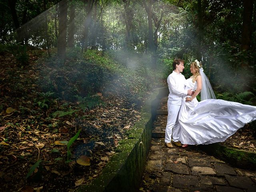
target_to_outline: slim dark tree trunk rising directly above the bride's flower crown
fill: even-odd
[[[202,60],[202,38],[203,38],[203,28],[202,28],[202,3],[201,0],[198,3],[198,48],[197,48],[197,59]]]

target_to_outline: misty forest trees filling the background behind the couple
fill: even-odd
[[[81,53],[122,51],[148,56],[152,70],[164,63],[168,72],[174,58],[187,64],[198,59],[216,90],[255,92],[253,0],[8,0],[0,5],[1,50],[19,44],[48,50],[50,56],[57,48],[62,59],[67,47]],[[19,57],[26,65],[26,56]]]

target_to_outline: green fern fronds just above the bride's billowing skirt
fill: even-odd
[[[242,104],[248,104],[248,105],[252,105],[252,100],[255,98],[250,98],[249,100],[247,100],[247,98],[249,98],[250,96],[254,96],[254,94],[252,92],[240,92],[240,93],[230,93],[230,92],[224,92],[221,94],[217,94],[216,98],[217,99],[222,99],[222,100],[227,100],[227,101],[232,101],[232,102],[239,102]]]

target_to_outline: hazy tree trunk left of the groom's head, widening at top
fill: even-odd
[[[146,3],[146,0],[143,0],[144,7],[148,15],[148,42],[149,50],[151,53],[154,53],[154,34],[153,34],[153,22],[152,22],[152,0]]]

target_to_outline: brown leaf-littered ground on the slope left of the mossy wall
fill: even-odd
[[[42,103],[46,102],[35,100],[40,91],[39,72],[32,63],[37,57],[30,55],[31,65],[25,69],[16,66],[12,55],[0,59],[1,190],[63,192],[90,183],[115,153],[126,130],[140,119],[140,106],[128,102],[125,94],[98,93],[102,103],[95,108],[50,118],[51,106],[44,108]],[[74,108],[67,103],[72,105]],[[66,142],[79,129],[82,131],[71,146],[71,161],[66,162]],[[42,162],[25,179],[38,160]]]

